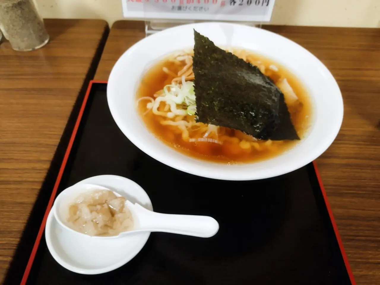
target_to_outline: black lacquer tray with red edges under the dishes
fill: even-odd
[[[78,98],[5,284],[354,285],[315,163],[283,176],[222,181],[150,158],[112,119],[105,82]],[[55,196],[90,176],[115,174],[141,185],[157,212],[210,215],[218,233],[202,239],[152,233],[129,263],[99,275],[60,266],[44,236]],[[227,201],[233,201],[226,207]]]

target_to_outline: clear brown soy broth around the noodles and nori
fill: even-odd
[[[239,56],[242,50],[234,50],[234,54]],[[266,71],[264,72],[269,76],[275,84],[281,79],[286,78],[289,85],[294,90],[299,101],[302,103],[301,108],[292,110],[289,108],[291,113],[291,120],[294,127],[297,130],[298,135],[302,139],[306,134],[307,129],[311,122],[311,100],[306,92],[304,86],[301,82],[291,74],[286,68],[282,67],[280,64],[270,60],[261,55],[254,53],[245,52],[245,60],[252,63],[253,65],[264,65]],[[241,56],[239,56],[241,57]],[[242,57],[244,59],[244,57]],[[269,70],[270,65],[275,65],[279,71]],[[178,65],[177,63],[170,61],[169,59],[164,59],[152,66],[144,77],[142,78],[141,84],[139,85],[137,98],[141,97],[154,97],[154,94],[159,90],[162,90],[164,86],[171,84],[173,76],[165,73],[163,68],[166,67],[168,70],[173,71],[177,74],[183,67],[183,65]],[[152,111],[146,112],[146,103],[148,100],[142,100],[139,103],[138,111],[141,115],[147,128],[161,141],[165,142],[169,146],[175,148],[176,150],[182,152],[190,157],[199,158],[207,161],[215,161],[221,163],[239,163],[239,162],[253,162],[265,160],[276,155],[279,155],[286,150],[294,146],[294,144],[299,141],[258,141],[250,143],[248,149],[242,149],[239,147],[239,138],[236,138],[235,131],[220,127],[219,136],[226,136],[226,140],[223,144],[216,144],[214,142],[188,142],[182,139],[182,131],[175,126],[162,125],[160,121],[163,119],[161,116],[153,114]],[[161,103],[159,111],[163,111],[164,104]],[[186,119],[194,119],[193,116],[187,116]],[[176,120],[176,118],[173,118]],[[202,134],[192,133],[192,138],[201,138]]]

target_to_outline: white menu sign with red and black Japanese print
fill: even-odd
[[[138,19],[268,22],[275,0],[122,0],[123,16]]]

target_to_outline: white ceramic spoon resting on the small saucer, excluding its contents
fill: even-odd
[[[55,199],[53,211],[56,220],[64,228],[74,231],[67,222],[69,205],[84,192],[91,190],[110,190],[93,184],[75,184],[63,190]],[[112,191],[112,190],[110,190]],[[112,191],[117,197],[119,193]],[[212,237],[219,230],[218,222],[207,216],[160,214],[149,211],[139,205],[126,200],[125,206],[131,211],[133,217],[133,230],[124,231],[118,236],[93,236],[94,238],[110,239],[128,236],[142,231],[160,231],[166,233],[184,234],[197,237]]]

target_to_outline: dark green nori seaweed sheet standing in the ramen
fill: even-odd
[[[258,139],[299,139],[284,95],[258,67],[194,30],[196,121]]]

